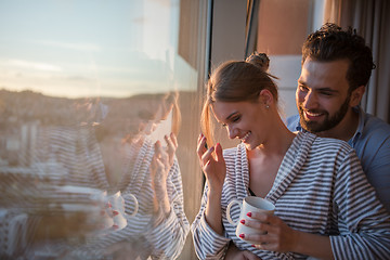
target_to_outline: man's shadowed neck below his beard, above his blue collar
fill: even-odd
[[[359,113],[350,108],[344,118],[334,128],[317,132],[318,136],[340,139],[348,142],[356,132],[359,126]]]

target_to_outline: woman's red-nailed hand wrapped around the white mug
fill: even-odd
[[[246,226],[259,230],[263,234],[243,234],[245,239],[257,240],[255,247],[270,251],[294,251],[297,231],[289,227],[281,218],[274,214],[250,212],[250,220],[242,220]],[[249,217],[249,216],[248,216]]]

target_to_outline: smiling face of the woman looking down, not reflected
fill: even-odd
[[[248,150],[263,143],[266,131],[263,104],[214,102],[211,109],[217,121],[226,128],[230,139],[240,139]]]

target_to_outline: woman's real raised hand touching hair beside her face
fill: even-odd
[[[213,152],[216,156],[213,156]],[[221,192],[226,176],[226,165],[222,155],[222,146],[218,143],[216,146],[207,150],[206,138],[200,134],[198,138],[197,154],[209,188]]]

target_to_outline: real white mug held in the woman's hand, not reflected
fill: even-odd
[[[231,218],[231,207],[234,204],[238,204],[239,209],[240,209],[240,214],[239,214],[239,219],[236,221],[233,221]],[[249,220],[250,218],[247,216],[248,212],[262,212],[262,213],[268,213],[268,214],[273,214],[275,210],[275,206],[261,197],[256,197],[256,196],[248,196],[246,198],[244,198],[243,200],[238,200],[238,199],[233,199],[226,208],[226,217],[227,217],[227,221],[233,224],[233,225],[237,225],[236,229],[236,236],[242,239],[245,240],[249,244],[256,244],[256,242],[252,240],[246,240],[245,238],[240,238],[239,235],[240,234],[263,234],[261,232],[259,232],[259,230],[256,229],[251,229],[249,226],[246,226],[242,223],[239,223],[239,220]]]

